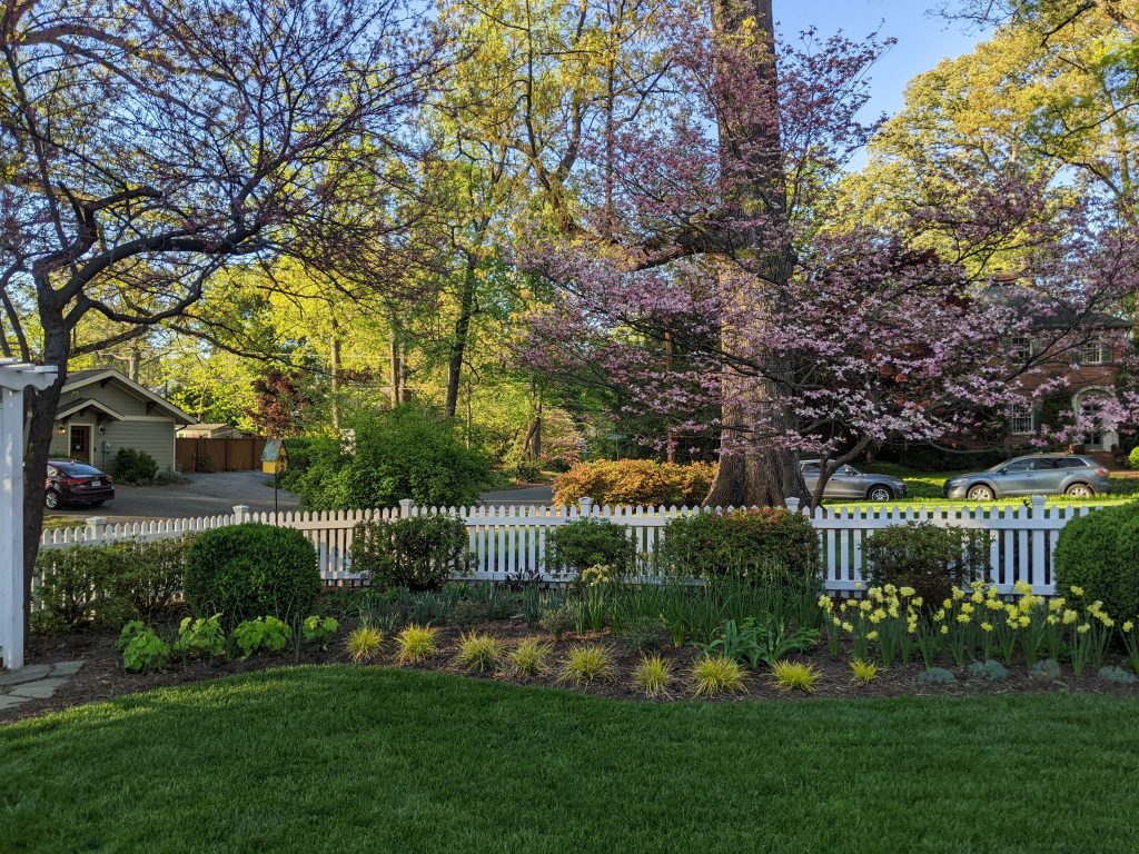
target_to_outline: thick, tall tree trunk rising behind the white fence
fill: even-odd
[[[747,56],[754,57],[759,79],[768,83],[760,88],[770,101],[767,109],[770,115],[778,115],[771,0],[712,0],[712,22],[718,40],[736,39],[754,24],[760,43]],[[734,73],[735,58],[719,64],[716,73],[724,80]],[[740,150],[753,156],[761,153],[751,183],[734,188],[735,197],[726,202],[744,216],[761,213],[767,225],[763,233],[748,235],[741,251],[736,251],[730,261],[724,258],[723,269],[727,271],[738,261],[746,261],[756,287],[754,290],[738,288],[736,298],[770,299],[772,294],[786,291],[794,257],[786,235],[787,192],[780,166],[778,122],[738,123],[722,117],[720,140],[724,163],[738,156]],[[735,271],[724,274],[736,272],[738,277],[738,269],[737,264]],[[738,287],[738,279],[734,287]],[[720,469],[706,503],[712,507],[778,506],[789,496],[805,502],[808,493],[798,470],[798,455],[771,441],[772,434],[792,426],[776,394],[778,377],[787,372],[788,366],[782,363],[786,356],[754,352],[747,334],[731,328],[729,322],[721,329],[721,344],[726,352],[738,356],[743,363],[754,364],[757,370],[726,370],[721,391]]]

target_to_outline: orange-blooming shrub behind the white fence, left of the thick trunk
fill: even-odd
[[[653,460],[579,462],[554,482],[554,502],[575,504],[688,504],[704,502],[715,478],[711,462],[680,466]]]

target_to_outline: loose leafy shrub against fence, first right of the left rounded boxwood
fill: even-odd
[[[361,522],[352,535],[352,568],[378,590],[440,590],[467,567],[462,519],[420,514]]]

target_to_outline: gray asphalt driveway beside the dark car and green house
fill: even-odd
[[[296,495],[278,491],[279,509],[296,510]],[[269,475],[260,471],[219,471],[212,475],[186,475],[185,482],[170,486],[128,486],[115,484],[115,498],[103,507],[67,507],[50,516],[85,519],[104,516],[108,522],[137,519],[180,519],[233,512],[235,504],[251,510],[272,510],[273,488]]]

